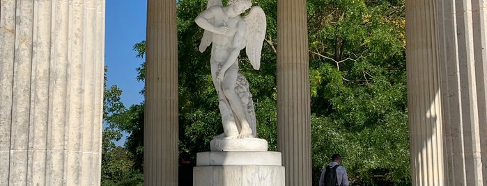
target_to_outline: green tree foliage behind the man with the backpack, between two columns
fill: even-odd
[[[314,178],[341,153],[352,183],[410,185],[404,1],[307,9]]]

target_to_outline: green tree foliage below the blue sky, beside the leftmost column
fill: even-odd
[[[107,71],[106,67],[105,71]],[[144,176],[141,171],[141,162],[137,156],[139,154],[137,151],[127,151],[127,149],[132,149],[133,141],[139,142],[140,139],[143,139],[141,135],[141,138],[137,140],[133,140],[137,135],[130,135],[125,142],[126,148],[114,144],[114,141],[121,140],[124,131],[137,133],[137,128],[134,128],[125,119],[137,118],[140,115],[132,109],[137,105],[132,105],[129,110],[125,108],[120,99],[121,94],[122,90],[116,85],[105,87],[103,120],[106,126],[102,133],[101,185],[142,185]],[[132,128],[122,128],[124,126],[132,126]]]

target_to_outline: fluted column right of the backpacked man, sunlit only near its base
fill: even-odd
[[[413,185],[442,185],[445,178],[435,1],[406,1],[408,114]]]

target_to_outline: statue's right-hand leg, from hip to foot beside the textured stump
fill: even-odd
[[[252,129],[249,126],[247,117],[245,117],[245,109],[243,107],[240,97],[235,93],[235,83],[237,81],[238,66],[235,63],[232,65],[225,74],[224,81],[222,82],[222,89],[226,96],[226,99],[230,103],[230,108],[235,114],[236,119],[240,121],[240,137],[252,137]]]

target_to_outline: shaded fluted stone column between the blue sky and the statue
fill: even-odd
[[[178,185],[176,1],[148,0],[144,185]]]

